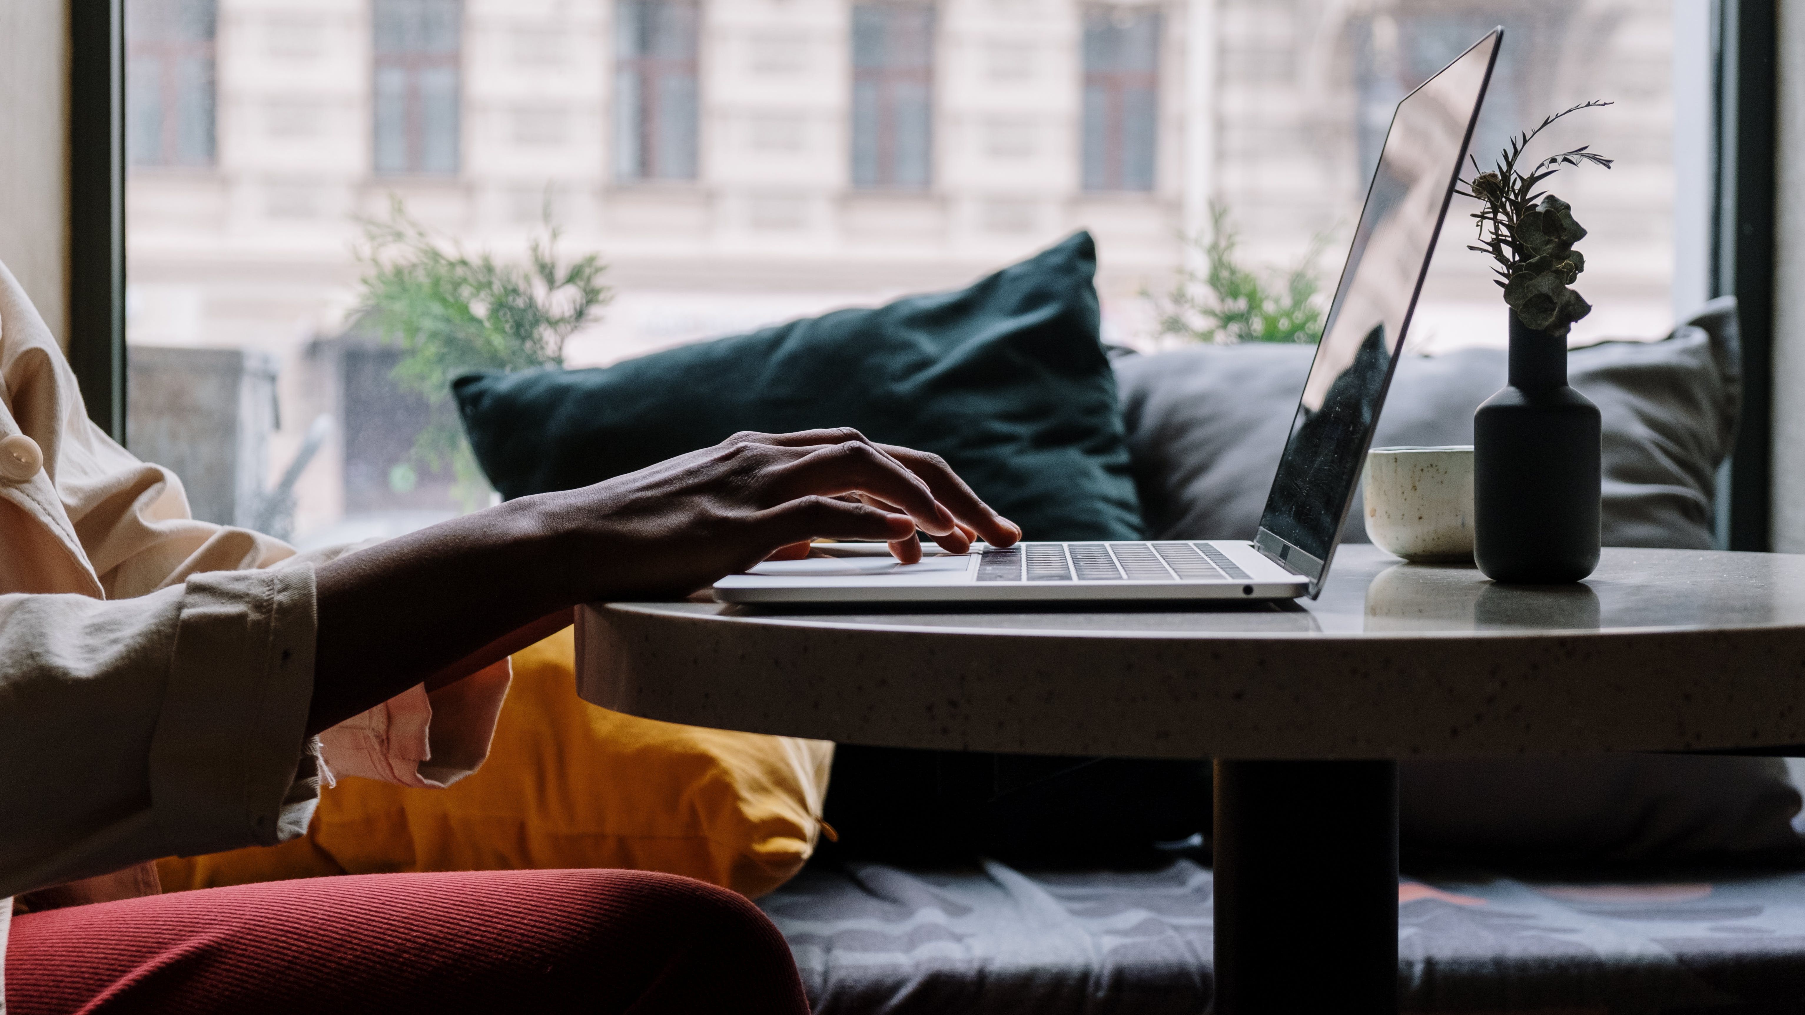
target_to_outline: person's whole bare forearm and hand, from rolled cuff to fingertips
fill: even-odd
[[[307,728],[464,676],[458,660],[578,602],[688,595],[812,537],[877,539],[915,562],[917,528],[955,553],[1022,537],[946,462],[838,429],[735,434],[390,539],[318,572]]]

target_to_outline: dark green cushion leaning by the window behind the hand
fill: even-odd
[[[850,425],[944,456],[1031,539],[1134,539],[1096,247],[1078,233],[969,288],[839,310],[601,370],[473,373],[453,391],[505,498],[567,490],[735,431]]]

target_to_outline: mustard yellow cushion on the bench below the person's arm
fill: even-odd
[[[760,896],[814,851],[834,745],[637,719],[576,696],[574,633],[514,656],[489,761],[448,790],[345,779],[305,838],[170,858],[164,891],[383,871],[632,867]]]

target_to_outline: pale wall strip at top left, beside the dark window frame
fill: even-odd
[[[0,261],[65,346],[67,124],[67,0],[0,0]]]

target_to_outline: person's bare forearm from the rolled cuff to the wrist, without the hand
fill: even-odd
[[[321,564],[307,732],[569,611],[570,553],[545,516],[527,498]]]

